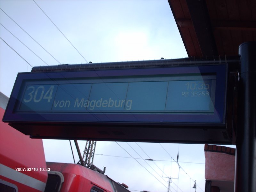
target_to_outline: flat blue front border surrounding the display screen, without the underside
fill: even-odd
[[[17,76],[17,80],[16,83],[14,85],[14,89],[12,92],[12,96],[10,99],[10,102],[8,104],[5,116],[4,116],[4,121],[33,121],[33,122],[42,122],[42,121],[49,121],[49,122],[137,122],[136,120],[139,119],[139,122],[143,122],[143,123],[158,123],[158,122],[163,122],[161,121],[161,119],[164,119],[164,123],[220,123],[220,124],[225,124],[225,98],[226,98],[226,84],[224,84],[223,82],[226,82],[226,73],[227,70],[225,69],[226,66],[225,65],[215,65],[215,66],[192,66],[192,67],[172,67],[172,68],[143,68],[143,69],[113,69],[113,70],[92,70],[92,71],[60,71],[60,72],[37,72],[37,73],[19,73]],[[156,77],[156,75],[163,77],[166,75],[171,75],[171,76],[184,76],[186,78],[188,78],[188,76],[190,75],[200,75],[200,74],[216,74],[216,94],[215,94],[215,103],[214,103],[214,111],[212,111],[213,113],[197,113],[196,114],[191,114],[189,112],[187,112],[186,110],[181,113],[180,111],[177,111],[177,113],[172,112],[165,112],[163,113],[163,111],[161,112],[154,112],[155,110],[147,110],[147,111],[140,111],[140,110],[133,110],[133,112],[131,112],[131,110],[126,110],[126,111],[98,111],[98,112],[94,112],[93,110],[88,110],[87,112],[85,110],[83,111],[66,111],[66,110],[41,110],[42,107],[45,106],[38,106],[37,108],[34,108],[32,110],[17,110],[17,106],[22,106],[23,103],[25,102],[21,102],[20,100],[22,100],[20,97],[20,95],[23,95],[25,92],[25,86],[26,84],[29,85],[37,85],[40,86],[39,88],[44,88],[44,85],[51,85],[53,83],[57,84],[57,85],[61,85],[61,84],[74,84],[74,83],[81,83],[81,81],[83,79],[89,79],[89,81],[93,78],[100,78],[100,81],[103,82],[102,84],[106,84],[106,80],[109,77],[117,77],[118,78],[122,78],[122,82],[127,82],[127,80],[124,78],[125,76],[129,77],[129,78],[133,78],[134,76],[136,77],[145,77],[145,76],[152,76],[151,79],[154,79]],[[124,78],[124,79],[123,79]],[[199,77],[198,77],[199,78]],[[63,80],[65,79],[65,80]],[[72,79],[72,81],[70,81],[69,79]],[[61,80],[61,81],[60,81]],[[24,84],[24,81],[25,84]],[[64,81],[64,83],[63,83]],[[88,81],[88,80],[87,80]],[[135,82],[137,82],[138,80],[134,80]],[[186,82],[188,87],[189,87],[189,81],[184,81],[184,84]],[[179,82],[183,82],[181,80],[179,80]],[[205,81],[204,79],[202,81]],[[161,82],[167,82],[164,80],[161,80]],[[178,81],[170,81],[170,82],[178,82]],[[192,81],[193,83],[194,81]],[[144,82],[143,82],[144,83]],[[150,82],[152,84],[152,82]],[[159,82],[156,82],[159,84]],[[157,86],[158,86],[157,84]],[[75,84],[77,85],[77,84]],[[81,85],[86,85],[86,84],[81,84]],[[94,85],[94,84],[93,84]],[[99,83],[97,84],[99,85]],[[186,85],[186,86],[187,86]],[[52,85],[53,86],[53,85]],[[122,85],[123,86],[123,85]],[[200,85],[194,85],[197,87],[202,87],[202,83]],[[209,86],[209,85],[208,85]],[[28,90],[27,95],[29,95],[29,97],[27,96],[28,99],[23,99],[25,101],[29,101],[29,99],[31,100],[32,97],[34,96],[34,101],[32,102],[30,101],[30,103],[32,103],[31,107],[34,107],[36,104],[42,102],[42,97],[44,96],[44,99],[48,99],[49,95],[50,95],[50,89],[45,89],[44,94],[42,93],[42,90],[39,89],[39,91],[37,92],[38,89],[36,89],[35,91],[35,86],[30,86],[28,88],[31,88],[30,90]],[[48,86],[49,87],[49,86]],[[130,86],[131,87],[131,86]],[[191,85],[190,85],[191,87]],[[204,85],[205,87],[205,85]],[[32,88],[34,88],[34,90],[32,90]],[[192,87],[193,88],[193,87]],[[60,88],[59,88],[60,89]],[[172,88],[173,89],[173,88]],[[195,87],[194,87],[195,89]],[[47,92],[48,90],[48,92]],[[183,89],[184,90],[184,89]],[[205,89],[203,89],[205,90]],[[41,92],[40,92],[41,91]],[[69,92],[69,90],[65,90],[66,92]],[[74,90],[72,90],[74,92]],[[70,92],[72,92],[70,91]],[[80,90],[79,90],[80,91]],[[112,91],[112,90],[111,90]],[[137,90],[139,91],[139,90]],[[154,92],[154,90],[152,90]],[[165,90],[164,90],[165,91]],[[198,90],[200,91],[200,90]],[[34,94],[32,95],[31,94]],[[215,92],[215,91],[214,91]],[[185,96],[185,94],[188,94],[188,92],[182,92],[183,96]],[[194,94],[194,92],[192,92]],[[201,94],[201,92],[196,92],[197,94]],[[37,94],[37,95],[36,95]],[[41,97],[40,97],[41,94]],[[104,93],[106,94],[106,93]],[[134,94],[134,93],[133,93]],[[137,93],[135,93],[137,94]],[[165,93],[164,93],[165,94]],[[191,91],[190,91],[191,94]],[[205,93],[204,93],[205,94]],[[209,94],[206,90],[206,94]],[[38,96],[39,95],[39,96]],[[55,97],[55,95],[51,95],[53,97]],[[206,96],[200,95],[201,96],[201,100],[204,99]],[[200,96],[197,96],[197,98],[199,98]],[[148,95],[148,97],[150,97]],[[161,95],[159,94],[158,97],[161,97]],[[20,98],[20,99],[19,99]],[[185,98],[185,97],[184,97]],[[192,96],[190,97],[192,98]],[[196,96],[194,96],[194,98],[196,98]],[[18,100],[19,99],[19,100]],[[40,100],[41,99],[41,100]],[[55,98],[53,98],[52,100],[54,100]],[[111,99],[111,98],[110,98]],[[146,99],[146,98],[145,98]],[[165,98],[164,98],[165,99]],[[187,98],[185,98],[187,99]],[[40,100],[40,102],[39,102]],[[101,99],[102,100],[102,99]],[[153,100],[153,99],[152,99]],[[61,102],[62,101],[62,102]],[[65,102],[63,102],[65,101]],[[83,100],[84,101],[84,100]],[[108,101],[105,100],[105,102]],[[110,100],[110,101],[114,101]],[[124,100],[123,100],[124,101]],[[129,100],[128,100],[129,101]],[[132,101],[132,100],[130,100]],[[194,100],[192,100],[193,102]],[[21,104],[20,104],[21,102]],[[61,103],[59,103],[61,102]],[[82,100],[76,100],[75,105],[76,106],[81,106]],[[104,102],[104,101],[103,101]],[[171,101],[170,101],[171,102]],[[176,100],[174,102],[177,102]],[[101,101],[102,103],[102,101]],[[126,106],[128,102],[126,102]],[[27,103],[25,103],[27,104]],[[50,103],[51,105],[53,105],[52,103]],[[68,107],[70,106],[70,102],[67,103],[67,100],[64,98],[63,99],[63,94],[62,94],[62,98],[59,100],[54,100],[54,105],[65,105]],[[80,105],[79,105],[80,104]],[[94,102],[95,104],[95,102]],[[122,104],[122,103],[121,103]],[[74,105],[74,102],[71,103],[71,105]],[[87,105],[87,103],[86,103]],[[89,105],[89,103],[88,103]],[[107,102],[105,103],[105,106],[109,105]],[[119,101],[119,105],[120,105],[120,101]],[[166,104],[164,104],[166,105]],[[65,107],[64,106],[64,107]],[[105,107],[104,106],[104,107]],[[125,106],[125,103],[124,103]],[[89,108],[89,107],[88,107]],[[79,108],[80,109],[80,108]],[[92,109],[92,108],[89,108]],[[129,109],[129,108],[128,108]],[[126,113],[124,113],[126,112]],[[144,112],[144,113],[143,113]],[[187,112],[187,113],[186,113]],[[192,110],[193,112],[193,110]],[[199,111],[200,112],[200,111]],[[61,115],[60,115],[61,114]],[[197,115],[198,114],[198,115]],[[155,118],[155,116],[158,116],[157,118]],[[169,117],[166,117],[169,116]],[[131,120],[134,119],[134,120]]]

